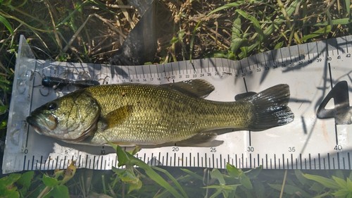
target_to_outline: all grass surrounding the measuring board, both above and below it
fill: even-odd
[[[116,3],[117,2],[117,3]],[[158,1],[154,63],[259,52],[352,33],[351,1]],[[124,1],[0,0],[0,137],[19,35],[40,59],[108,63],[138,22]],[[94,28],[92,28],[94,27]],[[40,50],[39,50],[40,49]],[[43,51],[45,53],[43,53]],[[117,148],[118,150],[118,148]],[[28,171],[0,178],[8,197],[351,197],[351,171],[151,168],[118,150],[126,169]],[[133,168],[133,165],[140,168]],[[7,194],[6,194],[7,193]]]

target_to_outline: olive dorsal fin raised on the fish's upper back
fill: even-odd
[[[183,94],[196,98],[205,98],[215,89],[213,85],[202,79],[186,80],[161,86],[175,89],[178,92],[182,92]]]

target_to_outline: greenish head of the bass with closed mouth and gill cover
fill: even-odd
[[[86,92],[76,91],[40,106],[26,120],[39,134],[80,142],[95,132],[99,116],[97,101]]]

